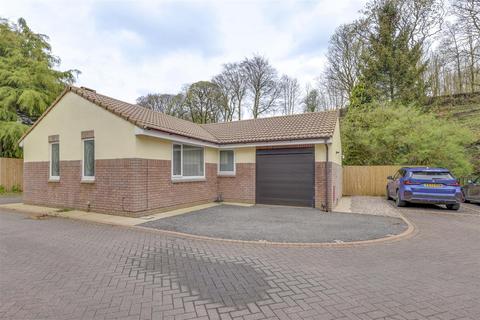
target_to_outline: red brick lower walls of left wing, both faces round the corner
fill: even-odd
[[[24,202],[124,215],[217,198],[217,166],[205,165],[206,181],[171,181],[170,161],[95,161],[95,183],[81,183],[81,162],[61,161],[60,181],[48,182],[48,162],[24,164]],[[90,203],[90,206],[89,206]]]

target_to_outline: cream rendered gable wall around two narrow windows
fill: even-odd
[[[49,161],[48,136],[60,136],[60,160],[80,160],[81,132],[95,131],[95,158],[134,158],[135,126],[68,92],[23,141],[24,161]]]

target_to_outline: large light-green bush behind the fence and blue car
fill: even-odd
[[[342,144],[348,165],[428,165],[472,172],[466,146],[471,130],[418,108],[374,103],[349,108],[342,120]]]

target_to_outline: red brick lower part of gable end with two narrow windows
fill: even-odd
[[[61,161],[60,181],[48,182],[48,162],[24,164],[24,202],[98,212],[141,210],[137,159],[95,161],[95,183],[81,183],[81,162]],[[90,207],[89,207],[90,203]]]

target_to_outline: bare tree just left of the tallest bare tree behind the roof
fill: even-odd
[[[226,102],[224,121],[232,121],[234,114],[242,118],[242,103],[247,93],[247,81],[239,63],[223,65],[222,72],[212,80],[219,88]]]

